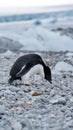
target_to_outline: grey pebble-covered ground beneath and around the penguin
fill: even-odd
[[[12,64],[26,53],[0,53],[0,130],[73,130],[73,71],[54,71],[61,61],[73,67],[73,53],[39,52],[55,85],[37,75],[32,86],[9,85]]]

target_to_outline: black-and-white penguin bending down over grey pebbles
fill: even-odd
[[[30,77],[35,73],[43,75],[44,79],[52,83],[51,69],[44,62],[42,57],[38,54],[27,54],[19,57],[13,64],[10,70],[9,84],[12,84],[14,80],[22,80],[25,75]]]

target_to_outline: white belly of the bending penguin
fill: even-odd
[[[30,77],[34,76],[35,74],[39,74],[42,78],[44,78],[44,70],[43,66],[38,64],[33,66],[23,77],[23,82],[26,83],[29,81]]]

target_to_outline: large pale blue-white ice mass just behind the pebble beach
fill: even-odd
[[[29,51],[73,51],[73,39],[49,30],[49,25],[11,23],[0,26],[0,36],[19,41]]]

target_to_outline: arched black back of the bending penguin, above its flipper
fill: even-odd
[[[14,65],[11,68],[10,75],[15,76],[23,66],[29,64],[29,66],[34,66],[36,64],[42,64],[42,59],[39,55],[37,54],[28,54],[28,55],[23,55],[19,57]]]

